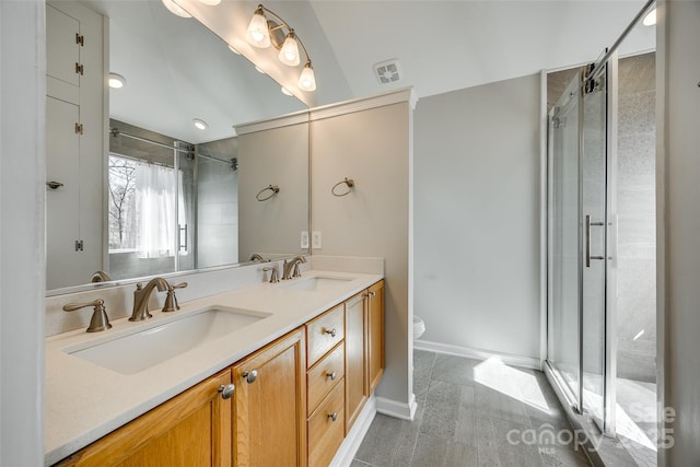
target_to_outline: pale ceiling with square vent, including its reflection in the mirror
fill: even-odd
[[[221,5],[206,7],[212,21],[228,27],[217,31],[219,37],[195,19],[173,15],[161,0],[83,2],[109,16],[110,70],[127,78],[127,86],[110,91],[115,118],[196,143],[234,136],[237,124],[305,108],[283,96],[279,84],[254,71],[219,38],[231,42],[242,36],[241,25],[257,1],[223,0]],[[294,27],[308,49],[318,89],[300,97],[317,106],[406,86],[413,86],[420,98],[590,62],[617,39],[643,3],[277,0],[264,4]],[[645,51],[654,45],[654,27],[639,26],[621,52]],[[373,65],[387,59],[399,61],[402,79],[380,84]],[[195,131],[192,118],[206,120],[210,128]]]

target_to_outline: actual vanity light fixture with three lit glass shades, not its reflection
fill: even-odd
[[[268,15],[271,19],[268,19]],[[279,15],[258,4],[246,30],[245,38],[250,45],[258,48],[273,46],[279,50],[279,60],[288,67],[298,67],[301,63],[301,47],[306,60],[298,84],[304,91],[316,90],[316,77],[308,51],[294,30]]]

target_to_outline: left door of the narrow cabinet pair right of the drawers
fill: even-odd
[[[364,390],[364,294],[359,293],[346,302],[346,435],[368,398]]]

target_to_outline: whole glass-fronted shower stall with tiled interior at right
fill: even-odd
[[[655,465],[657,441],[655,295],[646,290],[655,265],[654,54],[619,60],[618,49],[652,8],[573,72],[548,113],[546,367],[569,407],[593,422],[590,434],[625,448],[632,465]]]

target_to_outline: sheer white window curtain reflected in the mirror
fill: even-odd
[[[178,177],[180,178],[180,177]],[[152,164],[138,164],[136,170],[139,258],[175,255],[176,213],[173,170]],[[180,189],[182,192],[182,189]]]

